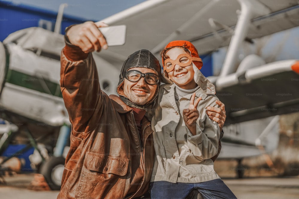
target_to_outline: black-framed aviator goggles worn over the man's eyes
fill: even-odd
[[[138,70],[129,70],[126,72],[126,78],[127,78],[127,80],[132,81],[132,82],[137,82],[141,78],[144,78],[144,81],[150,85],[159,83],[158,75],[156,75],[155,73],[152,73],[152,72],[142,73]]]

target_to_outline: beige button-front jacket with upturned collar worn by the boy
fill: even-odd
[[[215,102],[218,98],[213,84],[196,67],[194,71],[194,79],[200,86],[196,98],[202,97],[197,107],[199,118],[194,136],[182,118],[192,94],[176,103],[175,85],[160,87],[151,121],[156,152],[151,181],[199,183],[219,178],[210,159],[218,152],[219,125],[206,114],[206,107],[218,107]]]

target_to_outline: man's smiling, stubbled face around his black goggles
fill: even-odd
[[[128,71],[130,70],[138,70],[142,73],[152,72],[157,74],[154,70],[149,68],[130,68]],[[155,95],[157,86],[157,84],[147,84],[143,77],[137,82],[132,82],[125,78],[123,82],[123,92],[132,103],[137,105],[144,105],[152,100]]]

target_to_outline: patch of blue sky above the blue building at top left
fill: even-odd
[[[67,3],[64,14],[87,18],[91,20],[101,20],[125,10],[145,0],[6,0],[13,4],[24,4],[58,12],[59,5]]]

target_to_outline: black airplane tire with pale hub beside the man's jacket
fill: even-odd
[[[52,190],[60,190],[65,158],[51,156],[40,167],[40,173],[45,177]]]

